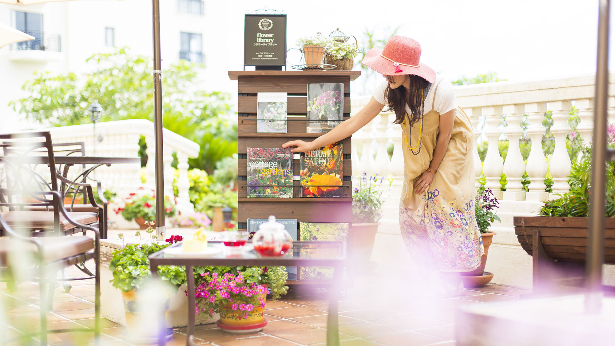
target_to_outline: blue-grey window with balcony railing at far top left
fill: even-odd
[[[42,30],[42,14],[13,10],[13,26],[19,31],[34,36],[31,41],[11,45],[13,50],[52,50],[60,52],[60,35],[45,33]]]

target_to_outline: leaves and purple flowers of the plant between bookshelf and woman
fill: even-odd
[[[384,177],[378,174],[367,176],[366,172],[355,177],[355,188],[352,192],[352,222],[354,223],[374,223],[382,218],[384,202],[382,188]],[[393,182],[388,180],[389,189]]]

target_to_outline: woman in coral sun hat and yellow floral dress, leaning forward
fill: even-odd
[[[292,140],[282,147],[303,152],[338,142],[388,105],[403,129],[403,240],[418,267],[440,273],[445,292],[454,296],[463,291],[459,272],[477,268],[484,254],[474,219],[474,137],[452,84],[420,57],[418,42],[404,36],[393,36],[384,49],[370,49],[362,64],[386,78],[370,102],[314,141]]]

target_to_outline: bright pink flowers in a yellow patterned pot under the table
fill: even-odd
[[[195,277],[195,313],[220,313],[218,327],[229,333],[263,329],[268,292],[276,300],[288,290],[285,267],[199,267]]]

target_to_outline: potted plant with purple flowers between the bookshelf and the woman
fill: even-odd
[[[388,180],[391,188],[392,180]],[[368,264],[373,251],[384,203],[384,177],[367,172],[355,177],[352,191],[352,256],[357,264]]]

